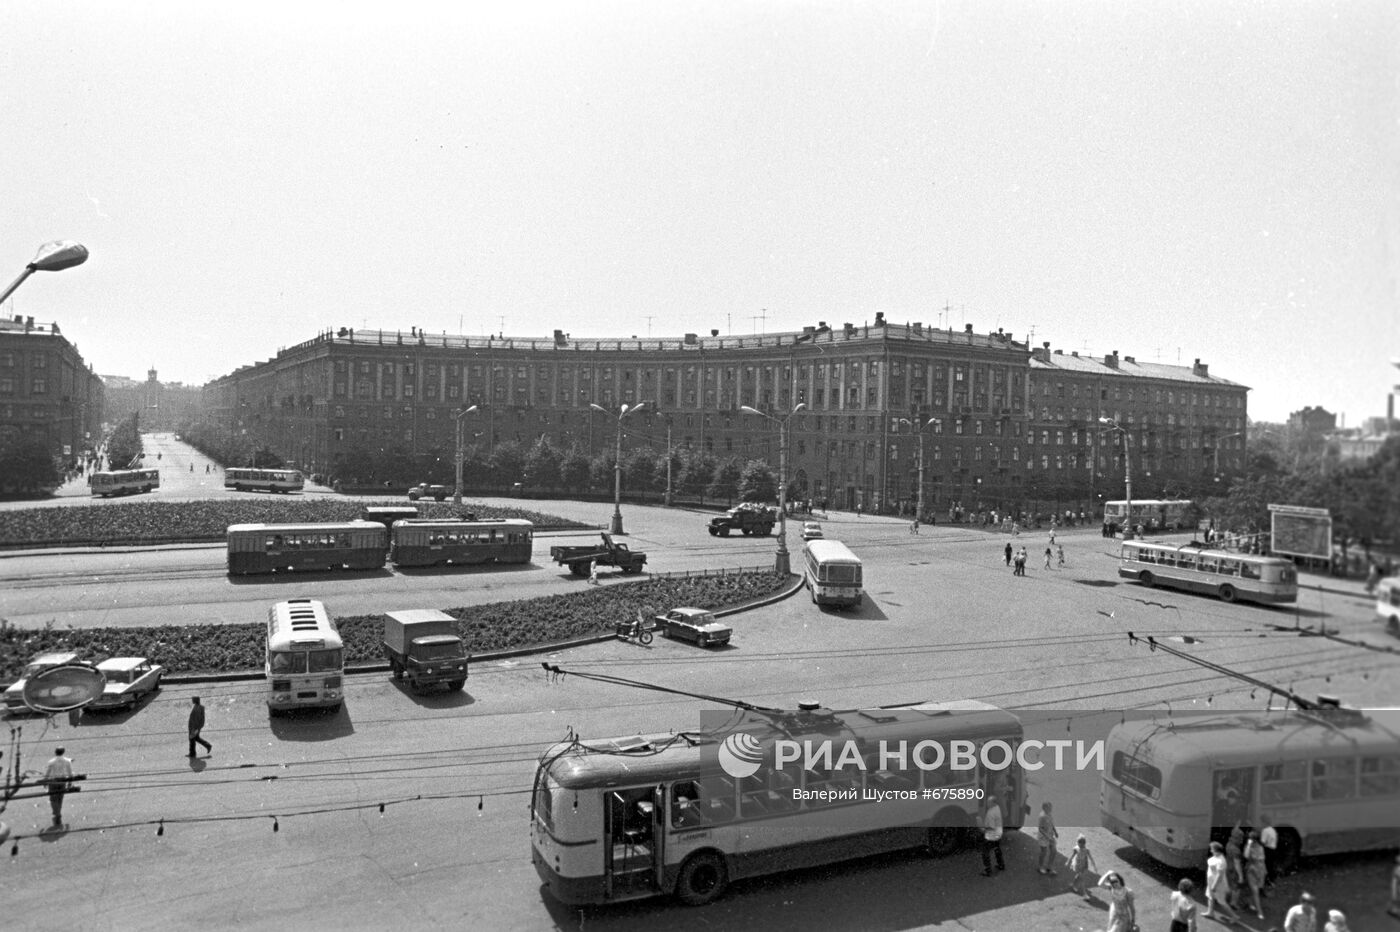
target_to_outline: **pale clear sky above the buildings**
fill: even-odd
[[[1400,383],[1400,4],[6,4],[8,316],[203,383],[328,327],[1004,327],[1280,421]],[[10,263],[13,271],[6,271]]]

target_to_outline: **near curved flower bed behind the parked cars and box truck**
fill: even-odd
[[[773,572],[645,579],[522,602],[447,609],[472,654],[508,651],[603,634],[641,612],[650,619],[676,606],[724,609],[780,592],[788,577]],[[346,665],[384,661],[382,616],[336,619]],[[263,624],[189,624],[144,628],[21,630],[0,620],[0,682],[18,679],[29,658],[73,651],[98,663],[109,656],[146,656],[169,673],[242,673],[263,666]]]

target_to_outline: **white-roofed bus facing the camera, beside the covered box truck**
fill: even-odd
[[[288,599],[267,610],[267,712],[325,708],[344,701],[344,645],[326,606]]]

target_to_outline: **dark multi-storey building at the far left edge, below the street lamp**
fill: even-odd
[[[0,441],[41,437],[76,463],[101,441],[102,379],[57,323],[0,320]]]

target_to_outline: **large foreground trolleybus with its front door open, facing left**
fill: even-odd
[[[904,848],[951,854],[976,838],[984,796],[998,800],[1008,828],[1025,817],[1026,781],[1014,753],[1021,722],[993,705],[804,704],[724,721],[700,732],[574,737],[540,756],[531,848],[556,900],[675,894],[700,905],[741,877]],[[780,763],[778,740],[832,740],[834,750],[825,760]],[[962,770],[904,767],[882,750],[959,740],[977,751]],[[994,754],[993,746],[1011,750]]]

